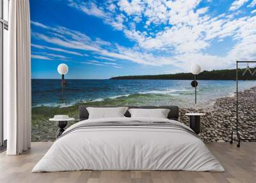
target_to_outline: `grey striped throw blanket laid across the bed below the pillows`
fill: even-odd
[[[170,122],[140,122],[138,120],[136,121],[130,121],[130,122],[92,122],[92,123],[83,123],[81,125],[77,125],[76,127],[69,129],[68,131],[65,131],[59,138],[66,136],[70,132],[77,131],[78,129],[92,129],[92,128],[98,128],[98,127],[111,127],[111,128],[122,128],[122,127],[164,127],[164,129],[176,129],[179,131],[185,131],[189,134],[195,136],[196,138],[199,138],[195,132],[193,132],[191,129],[187,129],[186,127],[176,124],[176,123],[170,123]]]

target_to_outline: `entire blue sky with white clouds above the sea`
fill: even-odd
[[[69,79],[234,68],[256,60],[256,0],[31,0],[31,74]]]

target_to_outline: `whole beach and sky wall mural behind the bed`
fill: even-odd
[[[230,140],[236,60],[256,60],[255,0],[31,0],[30,6],[32,141],[54,141],[49,118],[77,118],[81,104],[175,104],[186,124],[185,113],[206,113],[204,141]],[[61,63],[68,66],[63,94]],[[196,106],[189,73],[195,63],[202,68]],[[241,129],[255,138],[256,76],[247,72],[243,79]]]

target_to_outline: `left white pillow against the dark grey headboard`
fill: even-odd
[[[124,117],[128,107],[86,107],[89,119]]]

